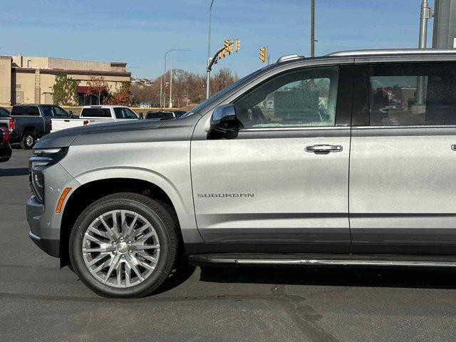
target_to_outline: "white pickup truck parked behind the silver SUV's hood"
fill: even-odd
[[[81,110],[78,119],[51,119],[51,132],[66,128],[93,125],[95,123],[110,123],[120,120],[138,120],[133,110],[123,105],[86,105]]]

